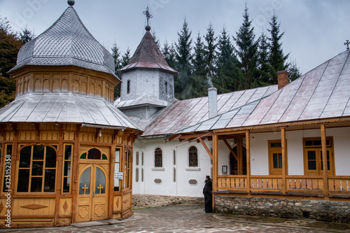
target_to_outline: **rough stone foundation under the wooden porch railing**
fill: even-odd
[[[350,202],[216,195],[215,212],[350,223]]]

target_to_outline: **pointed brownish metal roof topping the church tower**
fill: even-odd
[[[130,62],[119,71],[125,71],[134,68],[153,68],[164,69],[166,71],[177,73],[176,70],[169,66],[167,61],[160,52],[157,43],[149,31],[151,27],[146,27],[146,34],[142,38],[141,43],[134,52]]]

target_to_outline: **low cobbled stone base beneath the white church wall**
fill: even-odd
[[[132,195],[132,209],[169,206],[173,204],[203,204],[204,197],[175,197],[163,195]]]

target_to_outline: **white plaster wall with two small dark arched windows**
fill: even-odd
[[[184,143],[167,141],[163,139],[137,139],[134,143],[133,164],[133,192],[134,194],[172,195],[187,197],[202,197],[205,176],[211,176],[211,159],[201,143]],[[208,148],[211,142],[206,141]],[[198,150],[198,167],[188,167],[188,149],[196,146]],[[163,168],[154,167],[154,150],[162,148]],[[176,164],[174,165],[174,150]],[[144,151],[144,182],[141,182],[141,169],[139,182],[136,182],[136,153]],[[141,157],[140,157],[141,163]],[[140,166],[138,166],[140,168]],[[174,182],[174,168],[176,169],[176,182]],[[162,179],[162,183],[154,182],[155,178]],[[195,179],[197,184],[191,185],[188,181]]]

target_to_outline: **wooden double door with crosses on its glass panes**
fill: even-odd
[[[108,171],[88,164],[79,173],[76,222],[103,220],[108,213]]]

